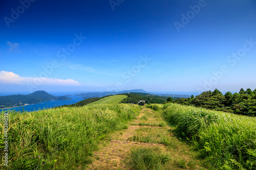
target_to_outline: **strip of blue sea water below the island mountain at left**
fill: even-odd
[[[55,106],[71,105],[71,104],[74,104],[74,103],[84,100],[80,96],[68,96],[68,97],[71,98],[72,100],[48,101],[48,102],[42,102],[42,103],[37,103],[37,104],[27,105],[27,106],[22,106],[22,107],[14,107],[14,108],[10,108],[10,109],[0,109],[0,112],[2,112],[2,110],[4,110],[4,111],[5,110],[23,111],[23,109],[25,111],[31,112],[31,111],[37,111],[39,109],[40,110],[49,109],[49,108],[53,108]]]

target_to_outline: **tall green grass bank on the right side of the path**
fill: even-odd
[[[163,117],[217,168],[256,169],[256,117],[166,104]]]

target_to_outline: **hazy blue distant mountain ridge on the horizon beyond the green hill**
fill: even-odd
[[[148,93],[148,94],[153,94],[153,95],[160,95],[160,96],[166,96],[166,97],[172,97],[172,98],[189,98],[190,95],[186,94],[160,94],[160,93],[152,93],[145,91],[143,89],[133,89],[133,90],[123,90],[119,92],[115,91],[107,91],[107,92],[87,92],[87,93],[80,93],[76,94],[76,96],[82,96],[83,99],[87,98],[98,98],[106,95],[115,95],[115,94],[123,94],[123,93],[128,93],[128,92],[137,92],[137,93]]]

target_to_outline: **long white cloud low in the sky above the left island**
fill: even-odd
[[[72,79],[63,80],[52,78],[21,77],[10,71],[0,71],[0,83],[20,85],[32,83],[35,85],[81,86],[80,83]]]

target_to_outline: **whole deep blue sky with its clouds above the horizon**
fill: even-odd
[[[256,2],[1,1],[0,92],[256,88]]]

